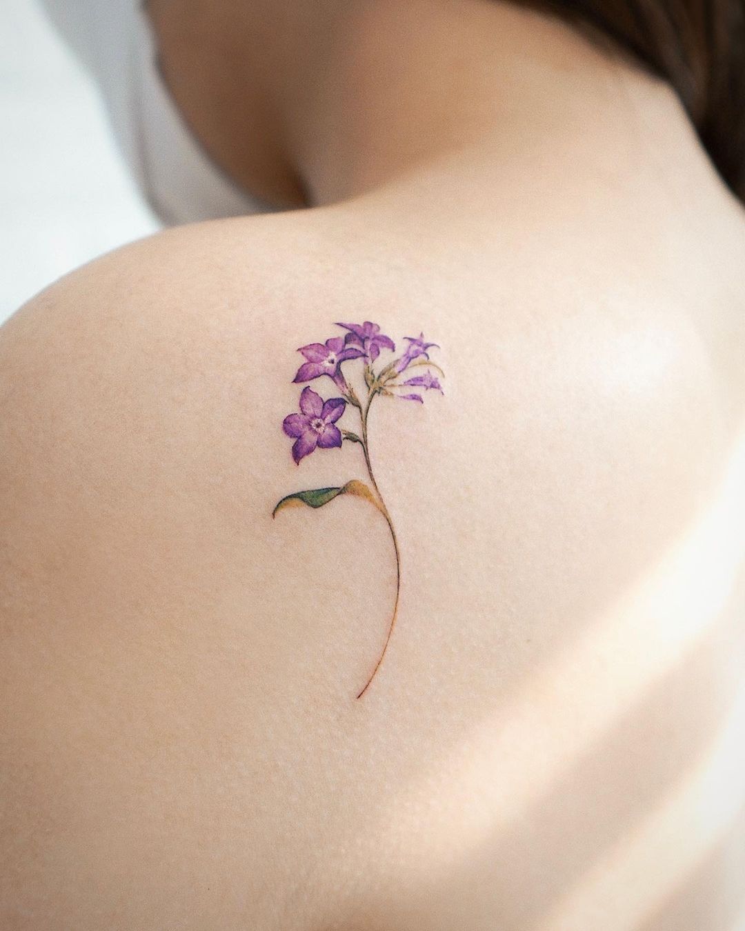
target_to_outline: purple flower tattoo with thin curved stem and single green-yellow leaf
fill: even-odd
[[[399,610],[401,582],[399,541],[393,526],[393,520],[373,475],[368,442],[370,408],[373,400],[378,396],[424,403],[422,392],[439,391],[440,394],[443,393],[437,374],[440,375],[440,378],[443,378],[444,373],[440,366],[430,360],[428,353],[429,349],[440,347],[436,343],[427,343],[424,333],[420,333],[417,337],[405,336],[404,339],[408,345],[400,357],[393,358],[387,364],[379,366],[378,371],[375,371],[373,366],[380,357],[381,352],[386,350],[395,354],[396,344],[394,344],[393,340],[380,331],[377,323],[372,323],[370,320],[365,320],[364,323],[337,323],[336,326],[346,331],[345,336],[332,336],[325,343],[310,343],[298,349],[298,352],[305,358],[305,362],[300,366],[292,381],[295,384],[310,382],[320,378],[321,375],[328,375],[342,397],[324,400],[309,385],[305,386],[300,394],[300,412],[288,414],[282,422],[282,429],[288,437],[294,439],[291,454],[292,459],[298,466],[301,460],[310,455],[311,452],[341,448],[345,439],[350,443],[359,444],[372,488],[363,481],[359,481],[359,479],[351,479],[341,486],[293,492],[278,501],[272,512],[272,517],[276,517],[278,511],[286,507],[301,505],[322,507],[340,494],[351,494],[369,501],[386,519],[396,555],[396,599],[393,604],[393,613],[388,624],[383,649],[378,656],[373,672],[357,695],[358,698],[361,698],[367,692],[375,678],[375,673],[383,662],[383,657],[386,655],[388,642],[393,633],[396,615]],[[345,362],[353,362],[358,359],[367,389],[367,395],[362,393],[361,399],[342,371],[342,365]],[[413,374],[411,370],[418,366],[423,368],[420,368],[419,374]],[[401,380],[400,375],[403,371],[406,371],[406,374],[412,377]],[[326,382],[325,384],[328,385],[329,383]],[[420,390],[412,391],[412,388]],[[399,389],[404,389],[404,392],[401,393]],[[406,389],[409,390],[406,391]],[[357,429],[359,432],[340,429],[336,425],[336,422],[348,408],[353,408],[357,412],[359,418]]]

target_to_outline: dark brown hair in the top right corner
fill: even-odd
[[[745,0],[543,0],[630,51],[675,89],[725,182],[745,200]]]

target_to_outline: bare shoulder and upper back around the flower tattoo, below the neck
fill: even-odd
[[[642,283],[402,273],[381,242],[176,230],[0,331],[4,926],[581,926],[615,889],[632,927],[710,847],[709,892],[734,862],[726,341]],[[398,347],[375,377],[418,338],[442,393],[412,367],[424,403],[381,391],[361,424],[332,372],[293,383],[365,321]],[[299,464],[293,412],[324,422]],[[372,487],[363,430],[400,604],[357,700],[397,597],[386,514],[272,510]]]

